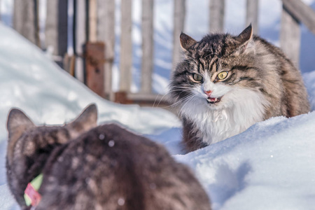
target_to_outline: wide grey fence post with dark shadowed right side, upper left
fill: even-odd
[[[52,48],[57,64],[62,66],[68,41],[68,0],[47,1],[45,45]]]

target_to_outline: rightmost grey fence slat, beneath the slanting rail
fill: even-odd
[[[281,14],[280,45],[283,52],[299,65],[301,31],[300,22],[283,6]]]

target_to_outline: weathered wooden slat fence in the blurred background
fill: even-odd
[[[72,4],[69,1],[73,2]],[[173,69],[180,59],[179,34],[184,30],[186,0],[174,1],[174,45]],[[225,1],[209,1],[209,29],[223,32]],[[120,1],[120,90],[111,89],[112,66],[115,48],[114,0],[48,0],[45,22],[45,45],[53,46],[53,55],[60,66],[85,84],[93,86],[103,83],[97,93],[120,103],[152,104],[161,101],[162,96],[152,93],[153,73],[153,8],[154,0],[142,0],[142,62],[141,88],[131,93],[132,84],[132,0]],[[315,34],[315,13],[300,0],[282,0],[280,43],[284,52],[298,64],[300,55],[300,23]],[[71,6],[71,8],[69,8]],[[73,54],[67,54],[66,41],[69,10],[73,10]],[[258,33],[258,0],[246,1],[246,25],[252,23]],[[38,38],[38,0],[15,0],[14,28],[36,45]],[[245,26],[244,26],[245,27]],[[101,42],[101,43],[99,43]],[[105,45],[104,45],[104,44]],[[94,45],[94,46],[92,46]],[[102,46],[103,47],[102,47]],[[90,46],[84,48],[83,46]],[[41,46],[43,47],[43,46]],[[87,50],[93,49],[93,52]],[[66,56],[65,56],[66,55]],[[64,62],[62,62],[64,61]],[[92,72],[92,73],[91,73]],[[101,72],[98,74],[98,72]],[[94,79],[102,79],[94,83]],[[94,87],[92,87],[93,89]],[[162,104],[163,104],[162,100]]]

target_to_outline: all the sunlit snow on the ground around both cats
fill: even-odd
[[[172,113],[107,102],[0,25],[0,209],[16,209],[6,186],[6,116],[15,106],[36,124],[62,124],[96,103],[99,123],[118,121],[165,144],[195,171],[213,209],[314,209],[315,113],[272,118],[199,151],[180,155],[181,128]],[[315,71],[304,73],[312,110]]]

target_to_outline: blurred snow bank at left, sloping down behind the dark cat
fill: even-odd
[[[157,134],[179,127],[174,114],[164,109],[120,105],[98,97],[20,34],[0,24],[0,209],[14,204],[6,187],[6,117],[12,107],[25,111],[34,123],[63,124],[87,104],[99,109],[99,123],[116,121],[143,134]]]

